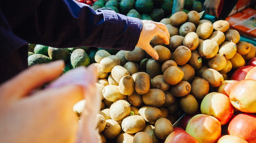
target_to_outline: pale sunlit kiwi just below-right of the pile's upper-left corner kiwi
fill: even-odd
[[[120,59],[116,55],[104,57],[99,62],[99,68],[102,69],[104,72],[111,72],[111,70],[117,65],[120,66]]]

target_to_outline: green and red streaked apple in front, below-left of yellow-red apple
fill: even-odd
[[[189,120],[185,131],[200,143],[216,143],[221,136],[221,123],[210,115],[198,114]]]

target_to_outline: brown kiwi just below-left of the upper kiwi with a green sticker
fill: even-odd
[[[184,64],[180,68],[184,72],[182,81],[190,82],[195,76],[195,70],[189,64]]]

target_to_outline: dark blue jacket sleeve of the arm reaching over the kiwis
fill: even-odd
[[[29,43],[56,48],[91,46],[133,50],[142,29],[138,18],[113,10],[97,12],[73,0],[3,2],[14,34]]]

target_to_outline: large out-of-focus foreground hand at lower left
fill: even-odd
[[[63,61],[34,65],[0,86],[0,142],[75,142],[79,120],[72,108],[83,99],[83,88],[38,90],[59,77],[64,65]]]

